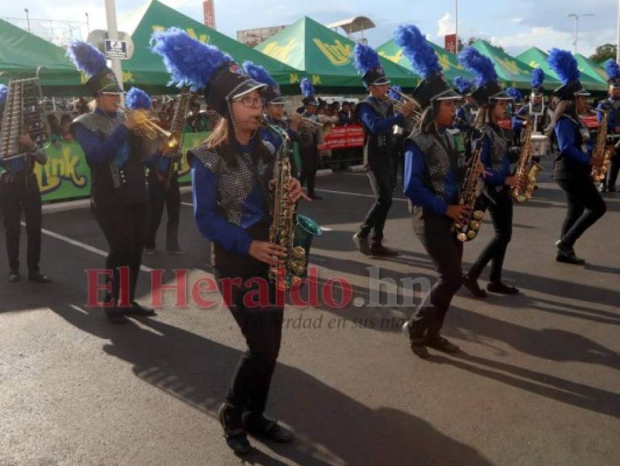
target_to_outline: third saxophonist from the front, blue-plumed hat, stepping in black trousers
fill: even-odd
[[[478,50],[466,47],[459,54],[459,62],[477,76],[477,89],[472,93],[472,98],[480,107],[476,126],[483,133],[480,143],[480,159],[485,168],[483,202],[488,204],[495,229],[493,239],[463,277],[463,285],[476,298],[486,298],[486,291],[478,286],[478,278],[491,262],[487,290],[492,293],[517,294],[517,288],[501,282],[503,261],[512,236],[510,186],[515,184],[516,179],[510,176],[510,161],[513,156],[508,138],[499,127],[499,121],[506,117],[506,106],[512,98],[499,86],[493,62]]]

